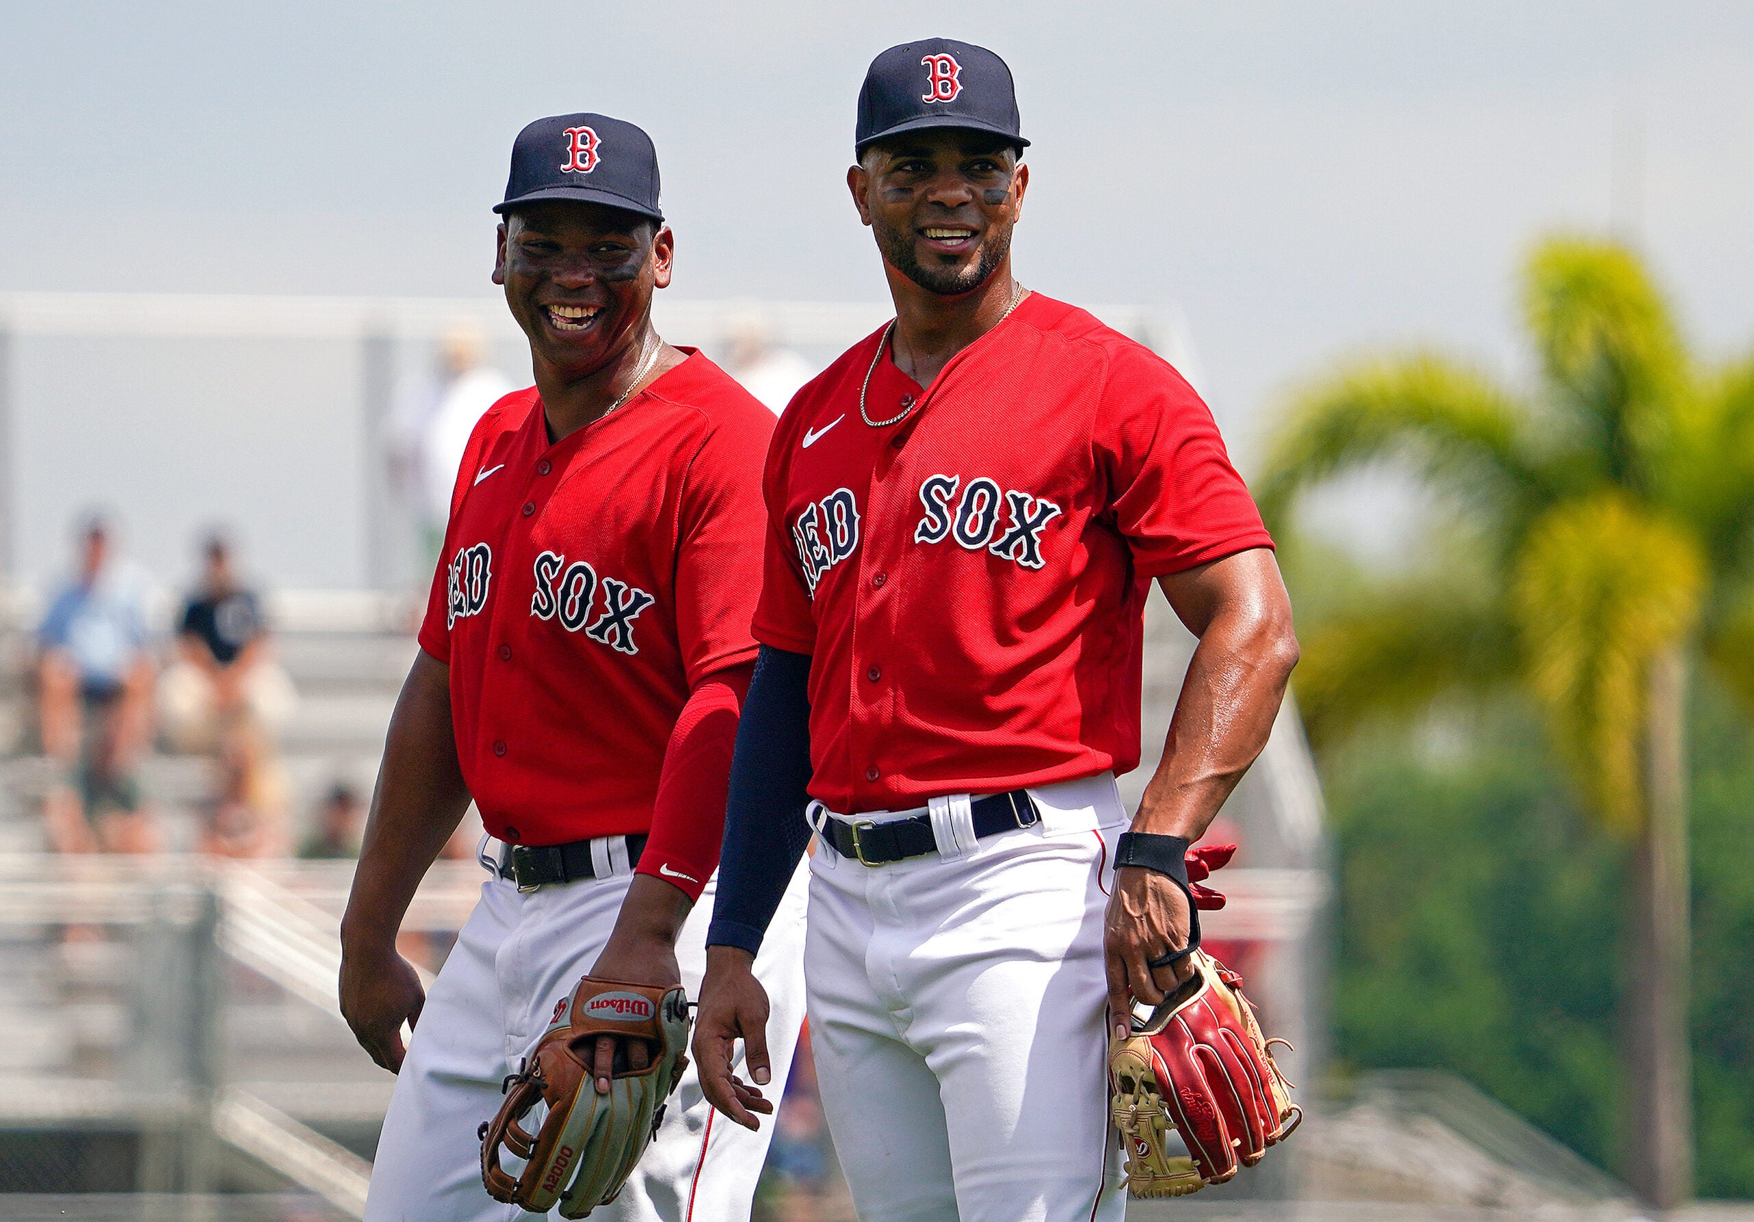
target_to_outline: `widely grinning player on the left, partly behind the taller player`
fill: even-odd
[[[756,652],[774,417],[652,330],[674,238],[651,140],[600,114],[538,119],[495,212],[493,281],[537,384],[468,442],[342,920],[342,1013],[398,1071],[374,1222],[523,1217],[486,1194],[477,1127],[579,978],[698,991],[707,910],[691,908],[712,891]],[[396,927],[472,798],[489,877],[423,998]],[[775,1078],[803,1019],[802,945],[800,871],[756,968]],[[598,1091],[645,1055],[602,1038]],[[714,1122],[689,1071],[596,1217],[747,1218],[765,1148]]]

